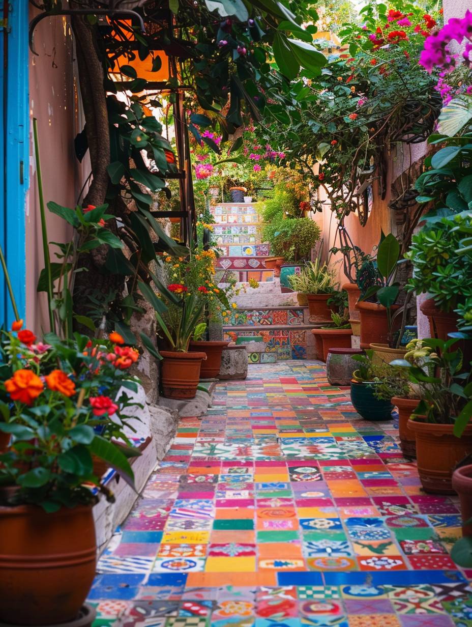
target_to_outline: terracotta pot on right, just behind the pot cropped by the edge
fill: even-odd
[[[432,424],[412,420],[407,424],[416,438],[416,460],[421,485],[425,492],[454,494],[453,469],[472,453],[472,426],[456,438],[453,424]]]

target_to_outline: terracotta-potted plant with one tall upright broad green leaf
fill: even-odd
[[[399,315],[404,311],[396,305],[400,291],[396,282],[399,256],[397,238],[389,233],[380,242],[375,265],[369,262],[369,282],[362,285],[364,290],[356,305],[360,312],[360,347],[374,349],[375,359],[387,364],[405,354],[404,349],[398,348],[402,332]],[[374,297],[375,302],[371,302]]]

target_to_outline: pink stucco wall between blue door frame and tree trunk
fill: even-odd
[[[37,10],[31,7],[31,17]],[[43,268],[43,245],[38,201],[38,182],[33,147],[33,117],[38,120],[39,151],[45,203],[55,201],[73,207],[85,177],[88,161],[79,164],[74,152],[74,137],[83,128],[78,94],[73,42],[68,18],[43,19],[34,31],[34,48],[30,54],[30,174],[26,204],[26,322],[30,329],[48,331],[46,294],[36,292],[39,272]],[[48,240],[66,241],[71,231],[65,221],[48,209]]]

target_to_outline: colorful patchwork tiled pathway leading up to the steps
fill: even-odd
[[[453,499],[323,366],[249,366],[177,438],[98,564],[95,627],[471,627]]]

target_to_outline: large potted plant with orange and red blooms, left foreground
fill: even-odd
[[[3,623],[78,618],[95,577],[92,507],[100,492],[113,498],[93,472],[93,456],[133,482],[122,450],[97,433],[112,421],[117,432],[128,399],[116,398],[118,388],[136,389],[126,370],[137,354],[114,339],[48,334],[36,342],[27,329],[2,332],[0,431],[9,435],[0,455]]]

